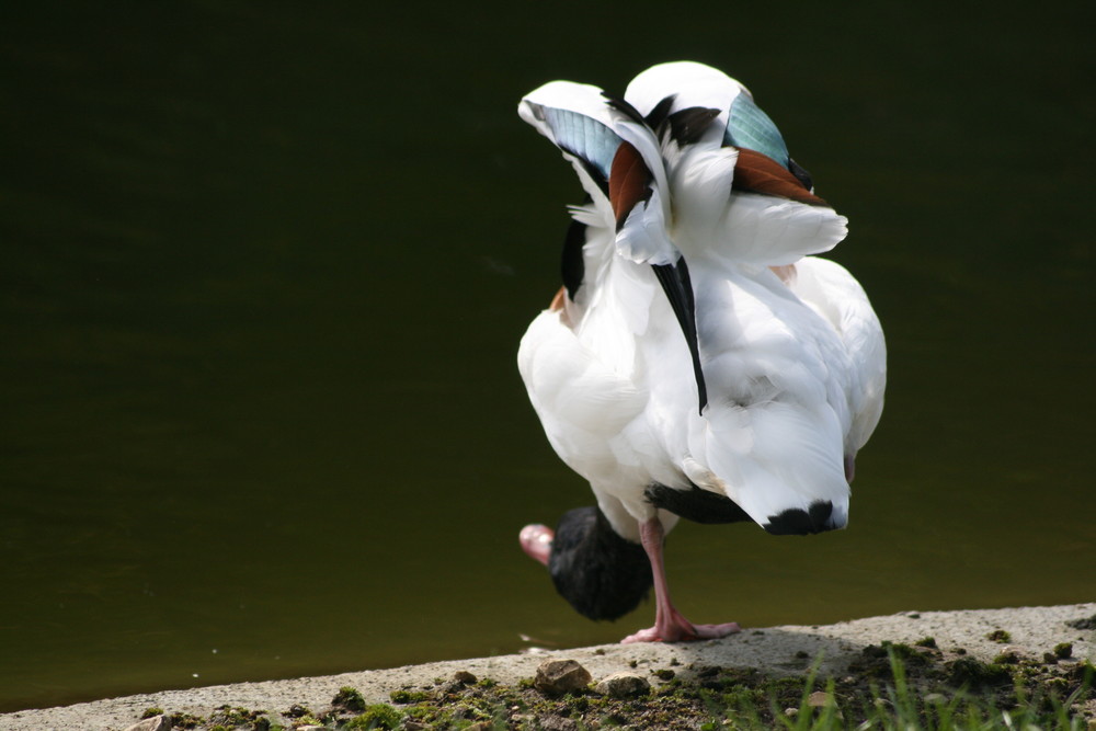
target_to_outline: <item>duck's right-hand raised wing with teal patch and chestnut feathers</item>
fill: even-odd
[[[694,254],[764,266],[829,251],[847,221],[814,194],[750,91],[693,61],[640,73],[625,99],[662,146],[674,202],[674,240]]]

